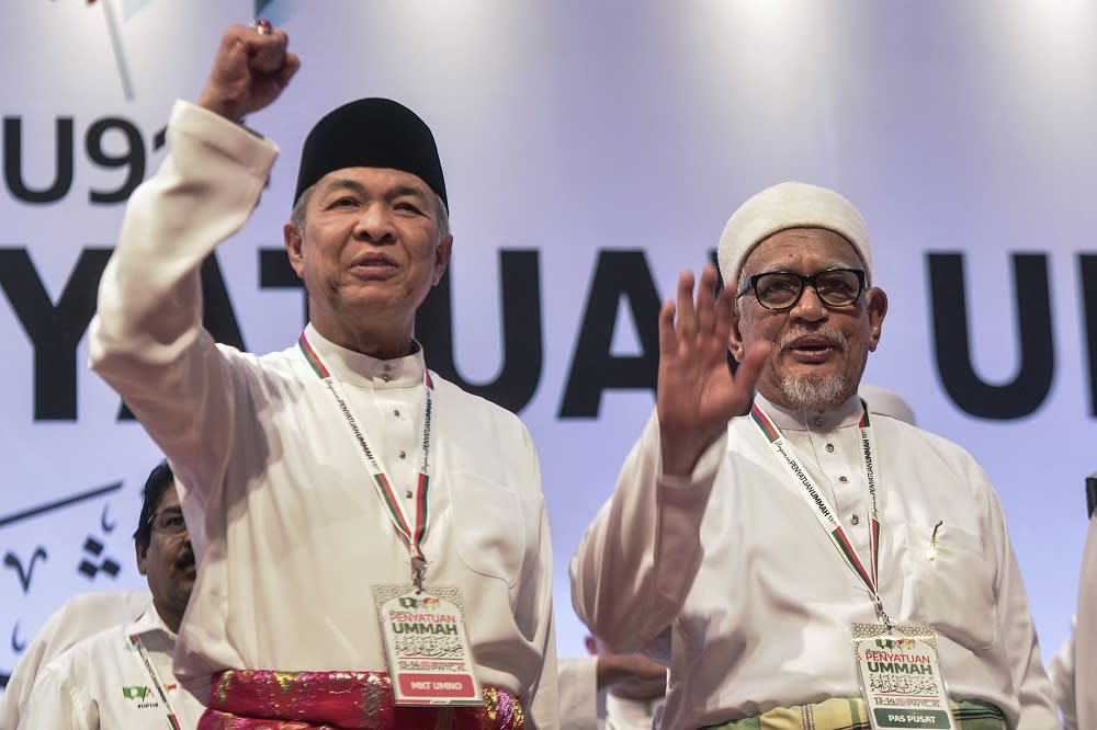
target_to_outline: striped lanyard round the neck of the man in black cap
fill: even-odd
[[[415,583],[417,589],[422,590],[422,577],[427,569],[427,560],[423,558],[419,545],[422,543],[423,535],[427,534],[427,486],[430,481],[430,417],[434,407],[434,384],[430,379],[430,373],[423,368],[422,381],[426,386],[427,397],[423,400],[422,414],[422,460],[419,465],[419,478],[416,484],[415,524],[409,525],[393,491],[392,480],[382,468],[373,448],[370,447],[370,442],[366,441],[362,426],[359,425],[354,419],[354,414],[351,413],[350,406],[339,392],[335,378],[331,377],[319,354],[308,344],[308,339],[304,332],[301,333],[301,338],[297,340],[297,347],[305,362],[313,368],[317,377],[324,381],[324,385],[335,399],[336,408],[347,421],[347,425],[350,427],[354,441],[358,443],[359,450],[365,459],[370,474],[373,476],[373,486],[377,490],[377,497],[381,498],[382,503],[387,507],[388,518],[392,520],[396,532],[400,534],[407,544],[408,552],[411,556],[411,582]]]

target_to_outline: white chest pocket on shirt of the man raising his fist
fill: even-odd
[[[450,492],[462,562],[514,588],[527,547],[522,499],[502,484],[467,474],[453,475]]]

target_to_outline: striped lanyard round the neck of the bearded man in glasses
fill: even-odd
[[[777,424],[773,423],[757,402],[750,408],[750,418],[754,419],[758,430],[761,431],[766,441],[769,442],[773,456],[784,467],[789,476],[792,477],[792,480],[803,487],[800,493],[807,500],[819,524],[823,525],[823,529],[826,531],[830,541],[838,548],[838,552],[841,554],[841,557],[849,567],[853,569],[858,578],[868,586],[869,593],[871,593],[875,604],[878,616],[890,628],[891,619],[884,613],[883,601],[880,597],[880,514],[877,509],[875,461],[872,458],[872,455],[875,453],[875,442],[872,437],[872,426],[869,421],[869,407],[863,399],[861,400],[861,408],[863,413],[857,426],[861,432],[861,458],[864,466],[864,476],[869,482],[869,504],[871,510],[869,514],[869,552],[871,555],[868,569],[864,568],[864,562],[857,555],[857,550],[853,549],[852,543],[849,541],[845,528],[838,522],[838,517],[835,516],[834,507],[830,506],[826,497],[812,483],[811,477],[807,476],[807,472],[796,459],[792,444],[785,441],[781,430],[777,427]]]

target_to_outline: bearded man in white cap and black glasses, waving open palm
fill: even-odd
[[[683,272],[660,311],[655,413],[570,564],[580,618],[617,651],[670,626],[666,728],[869,727],[852,624],[887,621],[936,629],[958,727],[1058,727],[986,476],[954,444],[862,417],[887,298],[860,214],[782,183],[731,217],[719,260],[726,288],[706,266],[694,300]]]

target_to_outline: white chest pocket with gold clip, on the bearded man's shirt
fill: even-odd
[[[912,524],[905,566],[908,616],[975,653],[998,639],[993,562],[979,536],[960,527]]]

